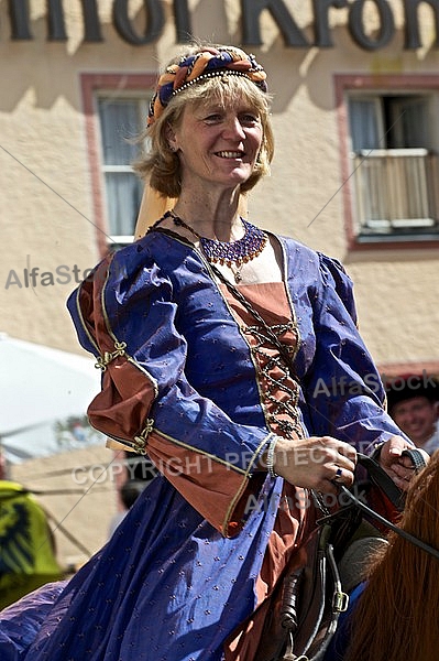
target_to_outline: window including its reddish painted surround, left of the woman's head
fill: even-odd
[[[101,257],[109,247],[131,242],[143,183],[131,169],[145,126],[156,74],[80,74],[87,152],[90,167],[96,245]]]

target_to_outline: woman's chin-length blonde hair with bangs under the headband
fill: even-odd
[[[194,52],[199,48],[194,47]],[[190,54],[190,51],[185,51]],[[178,62],[178,58],[173,62]],[[243,99],[257,111],[262,124],[262,144],[257,154],[254,170],[241,185],[241,193],[253,188],[259,180],[270,172],[274,154],[274,137],[270,119],[270,96],[263,93],[245,76],[224,76],[208,78],[190,85],[172,97],[161,116],[143,134],[147,149],[135,163],[133,169],[142,178],[149,178],[150,186],[165,197],[178,197],[182,189],[180,161],[172,152],[167,139],[168,127],[178,127],[183,112],[188,105],[208,104],[212,100],[226,106],[230,100]]]

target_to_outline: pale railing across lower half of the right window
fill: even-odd
[[[353,155],[359,234],[439,230],[438,163],[426,149],[361,151]]]

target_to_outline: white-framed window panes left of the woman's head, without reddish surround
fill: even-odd
[[[131,163],[139,153],[134,142],[147,116],[149,99],[100,93],[97,99],[105,209],[108,235],[118,246],[132,241],[143,183]]]

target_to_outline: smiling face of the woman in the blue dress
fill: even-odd
[[[260,113],[244,99],[189,104],[169,143],[178,150],[183,186],[234,188],[245,182],[261,149]]]

